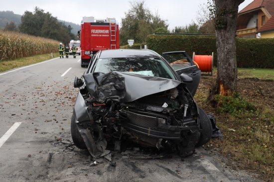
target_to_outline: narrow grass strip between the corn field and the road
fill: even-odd
[[[59,56],[58,53],[53,53],[53,57],[56,58]],[[25,57],[25,58],[19,58],[15,60],[8,60],[8,61],[0,61],[0,72],[4,72],[7,70],[11,70],[14,68],[19,68],[22,66],[31,65],[34,63],[39,63],[51,58],[51,54],[43,54],[43,55],[37,55],[37,56],[31,56],[31,57]]]

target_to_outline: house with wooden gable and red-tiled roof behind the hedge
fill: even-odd
[[[238,13],[237,37],[274,38],[274,0],[254,0]]]

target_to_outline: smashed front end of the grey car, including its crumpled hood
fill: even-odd
[[[81,82],[80,79],[76,82]],[[74,122],[93,157],[121,143],[190,155],[199,140],[198,107],[185,84],[121,72],[86,74]]]

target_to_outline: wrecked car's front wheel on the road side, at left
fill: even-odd
[[[74,142],[74,145],[79,148],[79,149],[86,149],[87,146],[82,138],[82,136],[80,135],[77,126],[76,126],[76,122],[75,122],[75,118],[74,118],[74,112],[72,114],[71,117],[71,123],[70,123],[70,132],[71,132],[71,138],[72,141]]]

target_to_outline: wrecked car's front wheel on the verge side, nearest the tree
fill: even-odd
[[[212,136],[212,124],[211,121],[209,119],[209,117],[207,116],[207,113],[199,107],[199,115],[200,115],[200,129],[202,129],[202,132],[200,134],[200,138],[198,143],[195,145],[196,147],[202,146],[204,144],[206,144],[207,142],[209,142],[209,140],[211,139]]]

